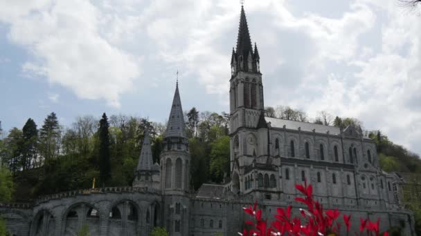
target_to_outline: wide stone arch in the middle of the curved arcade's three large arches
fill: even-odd
[[[99,235],[101,216],[98,209],[85,201],[75,202],[66,208],[62,215],[63,235],[74,235],[84,224],[89,226],[90,235]]]

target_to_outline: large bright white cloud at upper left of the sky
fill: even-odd
[[[119,106],[120,95],[141,74],[140,57],[100,35],[105,14],[83,0],[18,3],[0,3],[0,15],[8,16],[0,19],[10,24],[10,40],[35,57],[24,63],[24,71],[69,88],[80,98]]]

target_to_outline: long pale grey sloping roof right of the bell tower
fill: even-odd
[[[266,121],[269,123],[271,122],[271,126],[274,128],[285,128],[289,130],[298,130],[300,127],[302,131],[307,132],[318,132],[326,134],[329,131],[330,135],[340,135],[341,130],[338,127],[334,126],[323,126],[319,124],[313,124],[309,122],[301,122],[301,121],[291,121],[287,119],[278,119],[278,118],[272,118],[272,117],[265,117]]]

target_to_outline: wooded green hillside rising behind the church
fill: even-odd
[[[267,108],[266,115],[282,119],[313,121],[332,126],[361,126],[352,118],[320,112],[309,119],[305,112],[289,107]],[[100,115],[98,115],[100,117]],[[229,116],[222,112],[185,112],[192,159],[190,183],[222,183],[229,175]],[[0,139],[0,157],[15,181],[15,201],[66,190],[96,186],[130,186],[145,130],[152,140],[154,162],[159,162],[165,124],[145,117],[102,114],[77,117],[70,127],[59,124],[54,112],[37,126],[28,119],[24,127],[12,128]],[[0,132],[4,132],[1,130]],[[393,144],[380,131],[366,131],[377,143],[380,164],[386,171],[419,173],[421,160],[415,153]],[[2,137],[0,135],[0,137]],[[5,169],[2,175],[7,175]],[[1,184],[0,184],[1,185]],[[1,186],[0,186],[1,188]]]

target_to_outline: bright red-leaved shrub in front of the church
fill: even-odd
[[[296,185],[298,189],[305,197],[296,197],[295,201],[301,202],[307,206],[307,209],[300,208],[301,217],[292,217],[291,210],[292,206],[287,208],[278,208],[275,219],[270,224],[267,223],[267,219],[262,219],[262,210],[257,208],[257,202],[254,206],[243,208],[244,212],[253,217],[253,221],[247,220],[244,222],[246,225],[251,227],[250,230],[244,229],[243,233],[239,233],[244,236],[272,236],[272,235],[339,235],[341,224],[339,223],[341,213],[339,210],[323,210],[323,205],[319,201],[313,199],[313,188],[310,184],[307,186]],[[342,215],[343,223],[346,226],[347,235],[351,226],[351,215]],[[379,222],[370,222],[368,219],[360,219],[359,231],[360,233],[366,232],[368,236],[379,236]],[[385,232],[384,236],[388,236]]]

